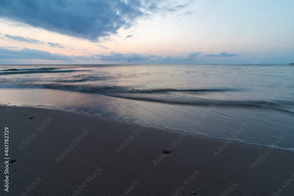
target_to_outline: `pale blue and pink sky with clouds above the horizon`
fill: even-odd
[[[294,63],[293,0],[1,0],[0,64]]]

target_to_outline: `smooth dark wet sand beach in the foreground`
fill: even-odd
[[[16,160],[0,195],[294,195],[291,152],[56,109],[0,117]]]

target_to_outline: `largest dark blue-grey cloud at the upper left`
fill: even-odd
[[[168,0],[166,0],[168,1]],[[137,19],[154,17],[157,13],[173,12],[191,4],[175,5],[164,0],[23,0],[8,13],[0,17],[11,19],[30,26],[38,27],[43,20],[48,21],[44,29],[69,36],[79,37],[81,32],[87,34],[84,39],[99,41],[99,38],[116,34],[120,28],[130,28],[137,24]],[[11,0],[1,0],[0,10],[6,10]],[[173,7],[173,8],[171,8]]]

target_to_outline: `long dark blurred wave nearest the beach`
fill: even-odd
[[[74,82],[83,82],[81,80],[64,80],[64,82],[72,82],[72,84],[64,84],[61,82],[57,83],[38,83],[35,84],[36,88],[47,88],[47,89],[60,89],[65,91],[76,91],[76,92],[87,92],[87,93],[99,93],[105,96],[112,96],[116,98],[124,98],[130,100],[140,100],[149,102],[158,102],[165,104],[177,104],[177,105],[193,105],[209,107],[207,110],[215,107],[234,107],[234,108],[256,108],[262,109],[262,104],[265,104],[264,100],[219,100],[219,99],[208,99],[199,98],[195,96],[189,96],[186,92],[217,92],[223,91],[220,89],[182,89],[179,92],[177,89],[161,88],[161,89],[134,89],[132,86],[91,86],[86,85],[74,85]],[[31,85],[31,83],[29,83]],[[21,84],[26,86],[26,84]],[[10,86],[9,86],[10,87]],[[238,91],[238,89],[236,90]],[[173,93],[170,93],[173,92]],[[176,93],[175,93],[176,92]],[[273,110],[280,110],[289,115],[293,115],[293,111],[281,108],[280,106],[293,105],[292,101],[273,101],[266,108]]]

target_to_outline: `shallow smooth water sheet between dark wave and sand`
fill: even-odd
[[[0,89],[0,94],[3,94],[1,102],[8,105],[56,107],[63,110],[76,110],[80,113],[86,111],[91,115],[100,114],[102,117],[127,120],[128,123],[145,124],[143,120],[146,119],[154,127],[169,130],[181,129],[192,134],[201,132],[214,138],[233,139],[234,137],[231,134],[238,129],[241,123],[246,122],[249,124],[248,129],[246,128],[237,136],[240,142],[243,140],[251,144],[266,146],[271,145],[275,138],[278,138],[278,135],[283,134],[283,136],[286,135],[287,139],[283,140],[278,147],[289,151],[294,150],[294,135],[290,131],[292,130],[292,115],[284,110],[273,110],[272,108],[254,110],[250,107],[238,106],[209,108],[205,105],[196,107],[177,104],[165,105],[152,101],[142,102],[115,98],[99,93],[77,93],[47,88],[33,88],[26,95],[24,90],[23,88]],[[163,94],[166,96],[165,93]],[[19,100],[17,98],[20,95],[24,98]],[[71,97],[72,95],[74,97]],[[145,96],[149,96],[149,94],[147,93]],[[68,98],[72,98],[71,101],[67,102]],[[83,100],[86,101],[83,102]],[[281,107],[283,106],[281,105]],[[207,109],[213,110],[208,114],[206,113]],[[289,110],[291,111],[291,106]],[[203,112],[207,114],[204,119],[201,118]]]

